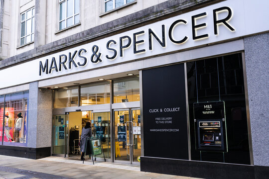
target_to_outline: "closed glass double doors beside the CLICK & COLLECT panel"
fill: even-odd
[[[138,162],[141,155],[140,109],[116,109],[115,161]]]

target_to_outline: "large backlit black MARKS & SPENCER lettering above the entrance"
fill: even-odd
[[[218,13],[222,11],[228,12],[227,16],[219,18]],[[195,41],[209,38],[208,33],[197,35],[197,31],[201,28],[206,28],[207,23],[197,23],[196,21],[197,19],[206,17],[208,13],[209,12],[202,12],[191,16],[191,29],[189,29],[189,31],[192,32],[192,40]],[[235,29],[228,22],[232,18],[232,10],[230,7],[222,6],[220,8],[213,9],[213,11],[211,11],[210,13],[213,13],[213,15],[211,14],[211,16],[213,16],[213,19],[211,20],[214,23],[214,35],[219,34],[218,25],[223,25],[230,31],[235,31]],[[144,35],[144,37],[146,37],[145,30],[134,32],[132,35],[120,36],[119,39],[110,39],[107,41],[105,49],[106,51],[109,51],[110,55],[105,54],[105,57],[101,57],[101,55],[108,52],[101,51],[100,44],[96,43],[90,47],[91,49],[80,48],[79,50],[74,50],[65,54],[63,53],[59,56],[53,56],[51,59],[46,59],[43,62],[39,61],[39,76],[41,76],[42,73],[51,74],[53,70],[55,70],[56,72],[60,72],[62,70],[71,69],[72,67],[85,67],[88,61],[91,61],[91,63],[93,64],[97,64],[99,62],[102,63],[104,60],[113,61],[115,58],[117,58],[118,54],[120,54],[120,57],[124,57],[124,50],[130,48],[131,46],[133,46],[134,55],[144,53],[146,50],[153,51],[153,38],[155,39],[154,41],[157,41],[157,44],[159,44],[163,48],[166,47],[166,39],[168,39],[174,44],[184,44],[189,39],[189,37],[187,35],[183,35],[184,37],[182,39],[176,39],[175,34],[182,32],[178,28],[177,30],[175,29],[176,26],[180,24],[180,28],[186,28],[184,27],[184,25],[186,25],[187,23],[187,20],[182,18],[173,21],[173,23],[168,27],[163,24],[159,27],[161,28],[161,34],[155,33],[153,28],[148,28],[146,30],[146,34],[148,35],[147,38],[140,40],[137,40],[138,36]],[[168,34],[166,33],[166,29],[168,29]],[[147,47],[145,45],[142,46],[142,44],[145,43],[145,40],[148,40]],[[116,44],[118,43],[120,44],[119,47],[115,48]]]

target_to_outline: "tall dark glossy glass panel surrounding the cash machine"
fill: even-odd
[[[187,63],[191,158],[250,165],[242,55],[232,54]],[[224,101],[228,152],[195,148],[193,103]]]

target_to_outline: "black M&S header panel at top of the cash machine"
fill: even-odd
[[[194,119],[225,118],[224,101],[193,103]]]

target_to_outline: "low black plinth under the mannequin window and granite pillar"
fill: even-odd
[[[0,146],[0,155],[23,157],[28,159],[40,159],[50,156],[51,148],[28,148],[14,146]]]

